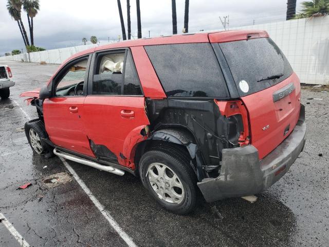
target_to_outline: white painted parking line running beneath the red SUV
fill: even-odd
[[[31,120],[29,115],[22,109],[22,107],[17,103],[15,100],[13,100],[14,103],[21,109],[21,111],[24,113],[24,115]],[[86,184],[80,179],[78,174],[75,172],[75,170],[65,161],[64,158],[60,157],[61,161],[63,162],[64,166],[67,168],[67,170],[73,175],[75,180],[78,182],[78,184],[81,186],[81,188],[86,192],[87,196],[92,200],[94,205],[97,207],[97,209],[100,211],[100,213],[105,217],[105,219],[108,221],[109,224],[113,227],[113,229],[119,234],[119,236],[123,239],[123,241],[126,242],[126,244],[130,247],[136,247],[137,245],[134,243],[134,241],[122,230],[122,228],[118,225],[118,223],[113,219],[113,217],[108,213],[108,211],[105,209],[105,207],[97,200],[97,198],[93,195],[92,191],[86,186]],[[1,213],[0,213],[1,214]],[[22,246],[29,246],[29,245],[22,245]]]

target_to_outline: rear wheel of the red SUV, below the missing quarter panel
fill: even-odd
[[[175,214],[185,215],[196,206],[196,176],[184,152],[167,146],[165,149],[150,150],[143,154],[140,178],[143,186],[162,207]]]

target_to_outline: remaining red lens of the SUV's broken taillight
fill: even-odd
[[[240,146],[248,145],[250,142],[250,135],[249,135],[249,124],[248,124],[248,112],[241,100],[234,100],[234,101],[218,101],[214,100],[215,103],[218,105],[220,112],[226,118],[234,115],[241,115],[242,122],[243,122],[243,131],[240,131],[239,136],[239,144]]]

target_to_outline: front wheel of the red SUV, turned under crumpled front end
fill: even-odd
[[[44,139],[48,138],[48,135],[40,119],[26,122],[24,129],[25,135],[34,153],[45,155],[46,157],[53,156],[53,148],[44,141]]]

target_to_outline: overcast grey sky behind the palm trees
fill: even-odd
[[[297,10],[300,2],[297,0]],[[136,1],[131,2],[131,27],[137,36]],[[221,29],[219,16],[230,16],[230,27],[283,21],[287,0],[190,0],[189,32],[201,29]],[[0,0],[0,56],[24,47],[19,27],[6,8],[7,0]],[[126,1],[121,0],[126,26]],[[184,26],[185,0],[176,0],[177,30]],[[140,0],[142,37],[172,33],[171,0]],[[26,31],[25,13],[22,19]],[[46,49],[82,45],[82,38],[117,40],[121,34],[116,0],[70,1],[40,0],[40,12],[34,20],[34,44]]]

